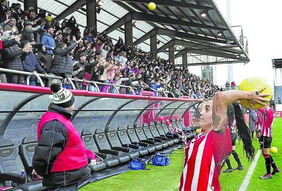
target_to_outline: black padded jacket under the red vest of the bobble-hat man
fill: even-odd
[[[68,111],[52,103],[49,105],[48,110],[62,114],[69,119],[72,116]],[[41,136],[38,145],[35,147],[32,165],[39,175],[44,176],[42,184],[48,188],[73,184],[88,178],[90,175],[88,166],[78,170],[51,172],[53,162],[67,144],[67,135],[66,127],[58,120],[45,123],[41,129]]]

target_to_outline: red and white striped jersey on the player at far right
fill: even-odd
[[[265,137],[272,137],[272,124],[274,122],[274,110],[271,108],[260,108],[259,112],[262,113],[262,122],[260,135]]]

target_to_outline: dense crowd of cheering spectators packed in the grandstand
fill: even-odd
[[[72,77],[76,89],[88,86],[90,91],[97,91],[97,87],[87,80],[132,86],[136,94],[154,89],[159,91],[156,96],[169,91],[176,97],[200,99],[213,97],[222,90],[208,79],[189,73],[188,67],[175,67],[137,46],[126,47],[121,38],[113,43],[106,34],[97,34],[95,28],[86,26],[80,31],[73,16],[59,23],[44,10],[23,11],[20,4],[12,4],[8,9],[5,0],[1,1],[1,9],[0,67],[63,77],[46,78],[46,86],[56,82],[71,88],[67,78]],[[0,76],[1,82],[27,83],[22,74],[1,72]],[[37,85],[35,76],[29,80],[31,85]],[[124,87],[116,88],[120,93],[132,93]],[[99,85],[102,92],[116,93],[116,88]]]

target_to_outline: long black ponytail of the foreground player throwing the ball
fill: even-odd
[[[254,159],[254,147],[252,145],[250,129],[245,123],[244,115],[239,104],[234,103],[233,106],[238,136],[243,142],[243,147],[246,152],[247,159],[249,161],[252,161]]]

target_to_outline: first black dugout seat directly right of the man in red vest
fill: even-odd
[[[103,163],[105,163],[105,166],[99,165],[99,166],[96,167],[96,165],[95,165],[93,167],[90,167],[91,173],[93,173],[94,171],[96,172],[96,171],[104,169],[104,168],[102,168],[102,166],[108,168],[108,167],[115,166],[115,165],[119,164],[118,160],[113,158],[112,155],[99,153],[99,150],[96,146],[96,143],[94,142],[93,134],[89,130],[83,130],[81,132],[81,139],[82,139],[82,142],[85,145],[85,148],[93,151],[97,156],[101,157],[103,159]],[[96,157],[96,161],[100,162],[101,159]]]

